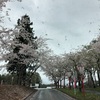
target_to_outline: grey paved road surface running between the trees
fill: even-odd
[[[75,100],[66,94],[54,89],[40,89],[26,100]]]

